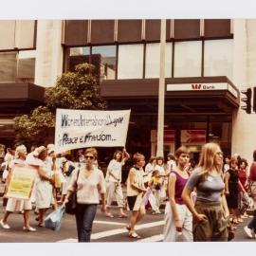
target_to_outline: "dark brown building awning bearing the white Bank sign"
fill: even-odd
[[[158,80],[104,81],[101,95],[111,109],[156,115]],[[227,77],[166,79],[165,115],[229,115],[239,106],[239,90]]]

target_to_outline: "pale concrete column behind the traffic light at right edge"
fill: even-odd
[[[256,20],[234,20],[233,82],[240,91],[256,85],[255,69]],[[256,114],[240,108],[233,112],[232,155],[238,153],[250,162],[255,149]]]

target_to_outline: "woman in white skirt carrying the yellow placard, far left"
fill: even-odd
[[[26,164],[27,148],[24,145],[20,145],[16,148],[15,159],[9,163],[9,177],[7,180],[7,186],[9,186],[10,175],[16,166],[27,166]],[[3,229],[10,229],[7,221],[9,214],[15,210],[24,210],[24,227],[25,231],[35,231],[29,225],[29,210],[32,210],[31,200],[21,200],[16,198],[9,198],[6,211],[3,218],[0,221],[0,225]]]

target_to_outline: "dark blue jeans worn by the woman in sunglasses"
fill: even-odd
[[[96,211],[97,205],[77,204],[76,222],[79,242],[90,242]]]

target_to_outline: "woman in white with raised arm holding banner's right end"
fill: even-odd
[[[119,206],[119,218],[127,218],[127,215],[123,212],[124,208],[124,200],[123,194],[121,190],[121,168],[125,164],[125,162],[130,158],[130,155],[126,152],[125,149],[123,151],[115,151],[113,155],[113,159],[109,162],[107,167],[106,174],[106,212],[105,215],[107,217],[113,218],[114,215],[110,212],[109,208],[111,207],[111,203],[116,195],[118,206]]]

